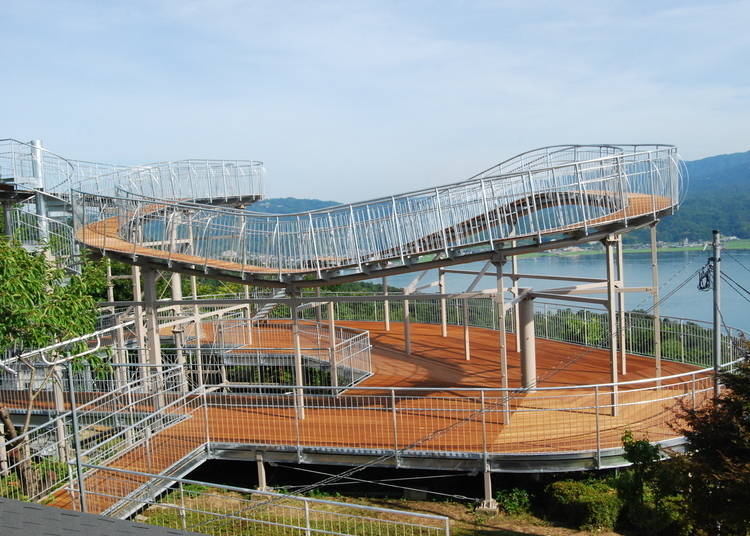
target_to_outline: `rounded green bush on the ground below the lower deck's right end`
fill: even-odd
[[[583,530],[612,530],[622,508],[615,489],[604,482],[560,480],[545,491],[552,515]]]

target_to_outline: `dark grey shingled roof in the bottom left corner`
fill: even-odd
[[[3,536],[197,536],[106,516],[0,497],[0,533]]]

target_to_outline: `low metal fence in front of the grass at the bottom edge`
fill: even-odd
[[[106,490],[85,490],[89,502],[139,511],[146,523],[215,536],[346,534],[449,536],[445,516],[329,501],[272,491],[169,478],[86,465],[106,478]],[[133,481],[141,483],[133,491]],[[167,491],[164,491],[167,490]]]

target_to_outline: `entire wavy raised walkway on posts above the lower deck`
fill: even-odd
[[[76,186],[76,239],[129,263],[276,287],[600,240],[670,213],[681,180],[671,146],[568,145],[524,153],[454,184],[266,215],[200,205],[194,201],[205,195],[159,176],[130,170]],[[102,181],[117,192],[102,193],[94,186]]]

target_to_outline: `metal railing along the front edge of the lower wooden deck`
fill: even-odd
[[[659,380],[522,389],[352,387],[346,396],[304,387],[304,416],[290,390],[229,395],[209,389],[213,444],[259,449],[388,453],[405,457],[582,452],[621,446],[627,430],[679,437],[678,408],[713,394],[710,370]],[[239,387],[239,386],[238,386]]]

